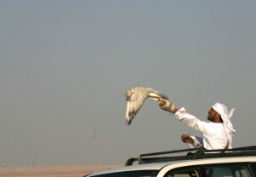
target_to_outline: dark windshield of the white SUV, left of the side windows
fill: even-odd
[[[140,171],[126,171],[112,174],[100,174],[96,177],[155,177],[159,170],[140,170]]]

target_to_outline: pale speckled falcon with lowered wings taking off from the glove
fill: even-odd
[[[153,88],[144,88],[140,86],[133,86],[126,92],[126,123],[130,125],[132,119],[143,106],[144,101],[149,98],[151,100],[159,101],[161,99],[168,100],[165,94],[160,94]]]

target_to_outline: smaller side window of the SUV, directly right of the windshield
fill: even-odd
[[[165,177],[199,177],[198,168],[189,168],[182,170],[171,170],[166,173]]]

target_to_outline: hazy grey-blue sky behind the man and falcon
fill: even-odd
[[[7,166],[125,163],[200,135],[146,100],[166,94],[201,120],[229,110],[233,146],[255,145],[256,1],[0,0],[0,157]]]

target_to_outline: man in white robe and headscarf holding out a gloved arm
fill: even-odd
[[[230,122],[230,117],[235,108],[228,113],[227,106],[215,103],[208,111],[207,119],[211,122],[207,123],[189,114],[184,108],[177,109],[169,100],[160,101],[159,105],[161,109],[174,114],[178,120],[201,132],[202,137],[182,135],[182,141],[188,143],[189,148],[199,146],[203,146],[207,150],[232,148],[232,138],[236,130]]]

